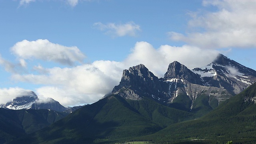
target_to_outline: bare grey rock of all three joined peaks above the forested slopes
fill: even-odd
[[[254,82],[255,70],[220,54],[214,62],[193,70],[174,61],[164,78],[154,76],[143,64],[133,66],[123,71],[111,94],[132,100],[148,97],[166,106],[204,114]]]

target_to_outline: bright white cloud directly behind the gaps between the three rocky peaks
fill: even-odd
[[[156,76],[163,77],[168,65],[175,60],[191,69],[209,64],[218,53],[215,50],[188,45],[182,47],[162,45],[156,49],[148,42],[137,42],[124,63],[126,65],[144,64]]]

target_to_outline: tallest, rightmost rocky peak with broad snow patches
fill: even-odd
[[[205,86],[222,87],[240,93],[256,81],[256,71],[230,60],[220,54],[214,62],[202,68],[194,68],[194,73],[199,74]]]

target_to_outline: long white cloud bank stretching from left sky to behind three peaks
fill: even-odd
[[[177,60],[188,68],[200,67],[214,60],[218,52],[192,46],[163,45],[154,48],[148,42],[137,42],[123,62],[94,61],[71,68],[34,66],[38,74],[13,74],[12,80],[42,84],[36,89],[41,98],[51,97],[64,106],[93,103],[118,85],[122,71],[144,64],[158,77],[163,77],[168,65]]]

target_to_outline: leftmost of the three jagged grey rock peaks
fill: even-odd
[[[168,96],[164,92],[163,85],[164,83],[157,76],[140,64],[123,71],[120,84],[114,87],[111,94],[133,100],[140,100],[144,95],[161,99]]]

